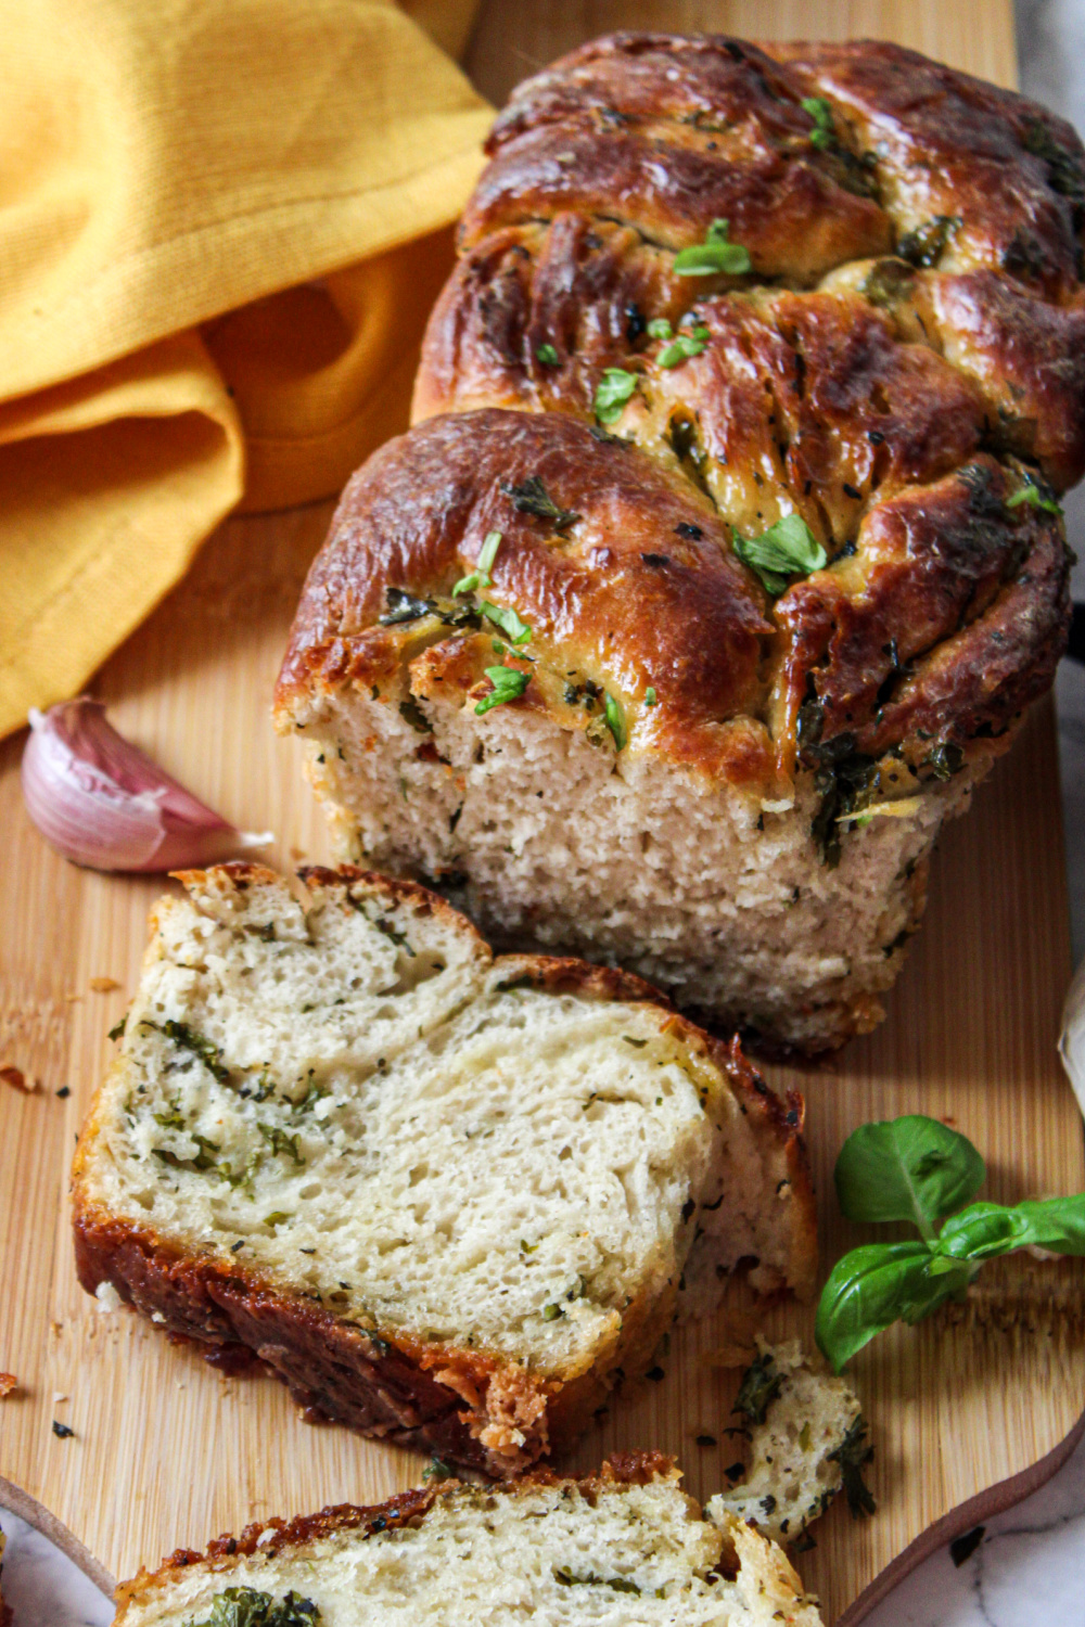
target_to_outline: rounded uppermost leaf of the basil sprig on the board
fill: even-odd
[[[849,1220],[909,1220],[930,1240],[934,1222],[974,1197],[986,1173],[966,1136],[908,1113],[852,1131],[836,1160],[834,1181]]]

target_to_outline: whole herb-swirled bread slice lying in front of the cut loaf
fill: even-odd
[[[501,1476],[649,1365],[683,1272],[810,1290],[802,1100],[737,1041],[626,973],[495,960],[410,882],[181,880],[76,1152],[88,1292]]]

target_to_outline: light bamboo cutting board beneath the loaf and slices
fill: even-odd
[[[719,28],[761,37],[880,34],[1002,83],[1013,80],[1009,0],[525,7],[490,0],[468,67],[501,101],[561,50],[615,26]],[[390,425],[389,430],[397,426]],[[189,579],[99,674],[93,690],[127,734],[231,818],[278,833],[273,862],[327,856],[293,742],[268,696],[301,581],[330,506],[234,521]],[[377,1502],[423,1463],[335,1427],[301,1422],[272,1380],[224,1380],[125,1311],[99,1315],[75,1282],[67,1171],[75,1131],[125,1009],[153,880],[80,872],[28,825],[23,739],[0,748],[0,1064],[39,1080],[0,1085],[0,1502],[57,1534],[102,1585],[177,1544],[202,1547],[249,1520],[329,1502]],[[112,978],[114,991],[89,988]],[[987,1158],[987,1196],[1085,1188],[1082,1124],[1056,1059],[1069,979],[1057,770],[1041,709],[935,861],[930,908],[887,1023],[821,1072],[773,1069],[808,1101],[823,1266],[861,1233],[836,1214],[841,1141],[870,1118],[926,1111]],[[68,1097],[57,1092],[67,1087]],[[1069,1453],[1085,1407],[1085,1269],[1018,1258],[989,1266],[974,1298],[895,1329],[854,1362],[877,1458],[875,1518],[839,1503],[800,1560],[826,1622],[854,1624],[917,1557],[1039,1484]],[[708,1497],[735,1456],[724,1433],[737,1373],[721,1350],[742,1331],[743,1290],[719,1318],[677,1331],[665,1376],[620,1398],[576,1464],[605,1451],[673,1451]],[[779,1306],[771,1336],[812,1334],[812,1310]],[[54,1419],[75,1435],[57,1438]],[[696,1437],[719,1445],[698,1446]],[[1007,1482],[1012,1482],[1007,1485]]]

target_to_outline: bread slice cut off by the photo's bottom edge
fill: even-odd
[[[669,1458],[631,1453],[582,1481],[451,1484],[252,1524],[122,1583],[115,1627],[817,1627],[782,1552],[732,1515],[704,1521],[678,1481]]]

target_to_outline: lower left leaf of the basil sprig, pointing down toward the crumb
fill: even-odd
[[[895,1321],[919,1321],[968,1287],[970,1269],[932,1279],[926,1243],[867,1243],[838,1259],[821,1290],[815,1337],[839,1373],[864,1344]]]

